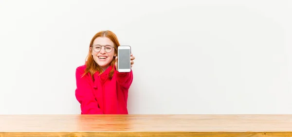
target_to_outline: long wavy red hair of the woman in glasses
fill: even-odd
[[[97,38],[97,37],[108,37],[110,38],[110,40],[113,42],[113,46],[114,46],[114,53],[117,53],[117,49],[118,49],[118,46],[120,46],[120,43],[119,43],[119,40],[117,38],[117,36],[112,33],[111,31],[101,31],[101,32],[98,32],[97,34],[95,34],[92,39],[91,39],[91,42],[90,42],[90,45],[89,45],[89,51],[88,51],[88,55],[86,57],[86,69],[84,71],[84,75],[86,75],[88,72],[91,74],[91,78],[94,80],[93,78],[93,74],[95,72],[99,72],[99,75],[103,73],[103,69],[100,68],[98,66],[98,64],[93,60],[93,57],[91,55],[91,50],[90,48],[93,46],[93,41]],[[110,70],[110,75],[109,75],[109,78],[111,79],[112,78],[112,75],[113,75],[113,72],[114,72],[114,65],[115,65],[115,57],[113,57],[112,61],[110,62],[110,66],[112,67],[111,70]]]

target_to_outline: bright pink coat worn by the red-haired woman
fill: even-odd
[[[110,79],[111,66],[101,75],[96,72],[92,80],[90,73],[82,77],[86,66],[76,68],[75,96],[80,103],[81,114],[128,114],[128,89],[133,81],[133,73],[118,72]]]

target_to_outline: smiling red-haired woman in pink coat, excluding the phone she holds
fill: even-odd
[[[128,89],[133,73],[117,71],[120,43],[110,31],[93,36],[85,65],[76,68],[75,96],[81,114],[128,114]],[[131,54],[131,66],[135,57]]]

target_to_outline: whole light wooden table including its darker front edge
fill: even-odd
[[[292,115],[0,115],[0,137],[292,137]]]

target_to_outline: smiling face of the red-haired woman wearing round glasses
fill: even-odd
[[[112,49],[111,51],[110,48]],[[94,39],[90,50],[93,60],[103,70],[110,66],[113,56],[116,56],[114,43],[108,37],[97,37]]]

